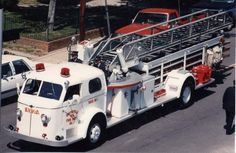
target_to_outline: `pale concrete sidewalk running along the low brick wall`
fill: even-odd
[[[101,39],[102,39],[101,37],[98,37],[98,38],[90,40],[90,42],[94,44],[100,41]],[[37,55],[25,53],[25,52],[13,51],[13,50],[8,50],[8,49],[4,49],[4,51],[8,51],[9,53],[14,54],[14,55],[27,57],[33,61],[52,63],[52,64],[65,62],[68,59],[68,52],[67,52],[66,47],[51,51],[48,54],[43,55],[43,56],[37,56]]]

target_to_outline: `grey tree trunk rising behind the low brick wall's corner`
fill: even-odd
[[[53,31],[55,10],[56,10],[56,0],[50,0],[48,8],[48,20],[47,20],[49,31]]]

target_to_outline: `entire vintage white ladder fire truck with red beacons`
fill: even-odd
[[[97,146],[107,128],[137,114],[178,99],[190,106],[193,93],[214,81],[212,70],[225,55],[222,29],[232,24],[227,12],[195,12],[206,17],[184,25],[137,37],[142,30],[108,38],[93,46],[70,45],[82,63],[65,62],[27,76],[20,92],[16,125],[7,133],[48,146],[68,146],[85,140]],[[75,41],[74,41],[75,42]]]

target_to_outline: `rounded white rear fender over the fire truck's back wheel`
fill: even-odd
[[[176,98],[180,97],[182,87],[184,82],[187,79],[192,79],[194,82],[194,86],[196,85],[196,81],[192,73],[187,70],[173,70],[171,71],[166,79],[165,88],[167,91],[171,91],[172,94],[175,94]]]

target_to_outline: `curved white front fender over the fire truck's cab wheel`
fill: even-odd
[[[93,119],[93,117],[98,114],[98,113],[102,113],[105,116],[105,113],[102,111],[102,109],[99,108],[89,108],[85,111],[85,113],[80,117],[80,125],[78,127],[79,129],[79,135],[81,135],[81,137],[83,139],[86,138],[87,135],[87,130],[89,127],[89,123],[91,122],[91,120]]]

